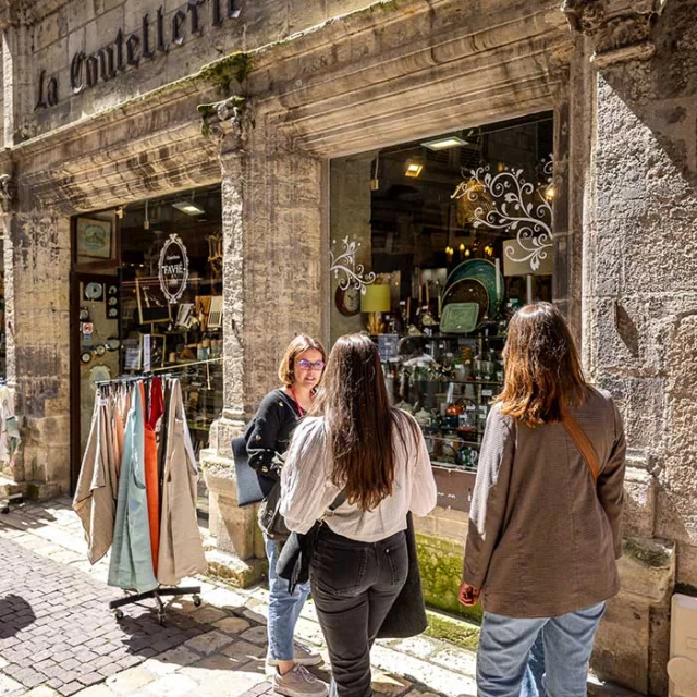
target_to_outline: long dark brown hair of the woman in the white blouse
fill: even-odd
[[[311,414],[326,418],[333,469],[346,500],[363,511],[392,493],[392,427],[411,426],[390,406],[378,347],[365,334],[346,334],[334,344]],[[418,441],[416,441],[418,442]]]

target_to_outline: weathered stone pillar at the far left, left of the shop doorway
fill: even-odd
[[[70,219],[17,212],[9,228],[7,377],[22,433],[13,475],[48,499],[70,490]]]

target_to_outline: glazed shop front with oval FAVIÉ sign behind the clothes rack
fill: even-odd
[[[196,455],[222,411],[220,185],[73,221],[72,485],[96,383],[122,376],[180,379]],[[208,493],[199,480],[199,514]]]

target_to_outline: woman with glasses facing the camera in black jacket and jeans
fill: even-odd
[[[279,479],[283,457],[298,419],[311,405],[326,359],[325,348],[318,341],[305,334],[293,339],[279,367],[283,387],[264,398],[249,425],[246,433],[249,465],[257,472],[266,496]],[[267,662],[276,667],[274,689],[286,697],[325,697],[326,685],[305,669],[305,665],[320,663],[321,657],[293,641],[295,624],[309,594],[309,584],[298,585],[290,594],[288,582],[276,573],[281,543],[266,534],[264,541],[269,560]]]

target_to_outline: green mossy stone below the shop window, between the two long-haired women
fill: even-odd
[[[465,608],[457,600],[462,579],[462,546],[450,540],[417,534],[416,547],[426,604],[481,622],[480,606]]]

